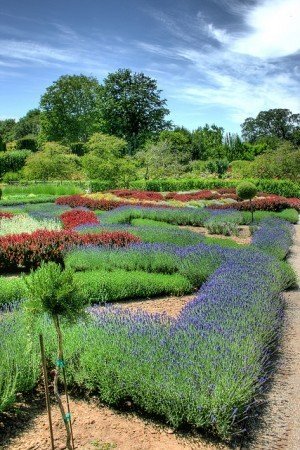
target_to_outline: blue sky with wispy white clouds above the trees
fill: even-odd
[[[9,0],[0,3],[0,119],[37,107],[64,74],[157,79],[170,119],[240,131],[300,112],[299,0]]]

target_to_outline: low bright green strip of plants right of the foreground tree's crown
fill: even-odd
[[[74,279],[81,285],[78,299],[90,304],[158,295],[183,295],[193,290],[189,281],[179,274],[92,270],[77,272]]]

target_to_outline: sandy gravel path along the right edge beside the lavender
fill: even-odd
[[[300,281],[300,225],[289,261]],[[285,324],[279,367],[267,395],[262,427],[243,447],[251,450],[300,449],[300,289],[286,292]]]

